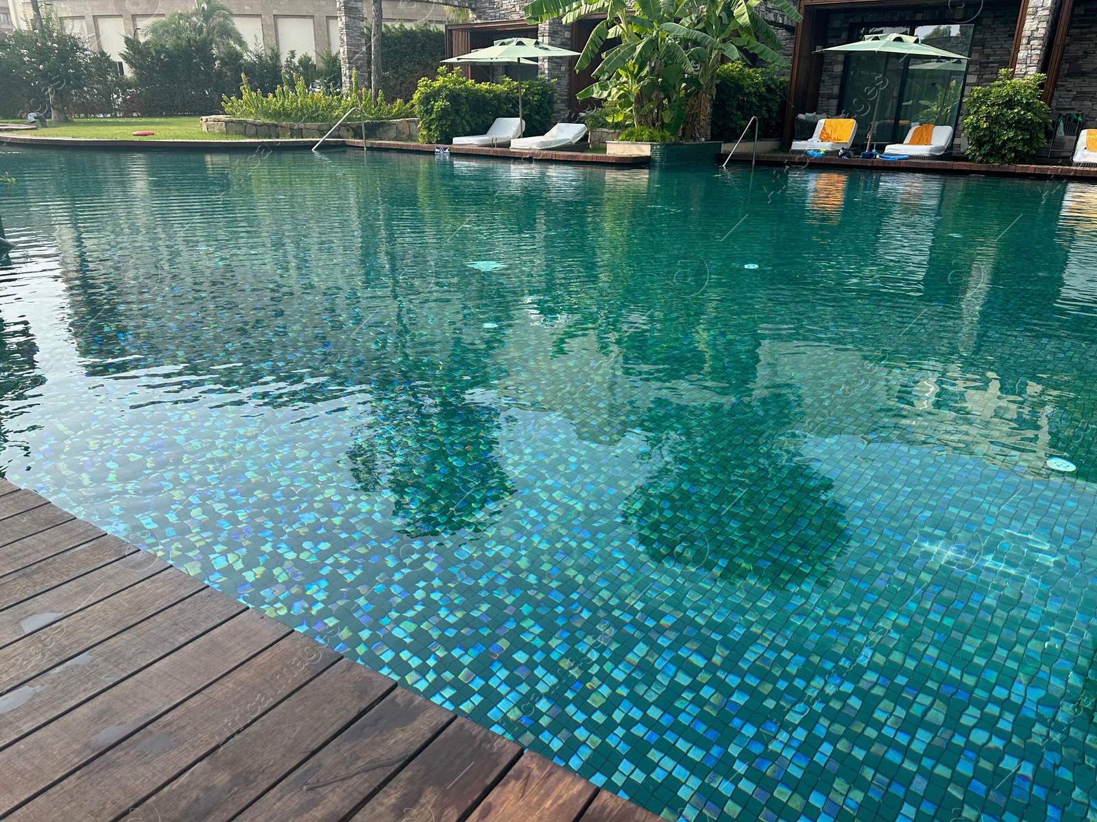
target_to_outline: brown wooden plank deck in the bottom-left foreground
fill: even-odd
[[[0,480],[0,818],[656,822]]]

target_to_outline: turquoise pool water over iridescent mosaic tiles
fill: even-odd
[[[1097,186],[0,170],[12,481],[668,820],[1097,815]]]

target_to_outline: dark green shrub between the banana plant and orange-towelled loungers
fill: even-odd
[[[789,81],[769,68],[727,62],[716,70],[712,103],[712,138],[737,140],[751,116],[758,117],[759,137],[778,137],[784,124]],[[754,134],[751,128],[747,135]]]

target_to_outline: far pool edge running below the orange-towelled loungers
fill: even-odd
[[[717,155],[723,163],[727,155]],[[750,162],[750,155],[735,153],[732,162],[743,164]],[[1054,180],[1097,180],[1097,167],[1085,165],[1051,165],[1040,163],[995,164],[961,160],[862,160],[861,158],[842,159],[840,157],[807,157],[802,153],[771,152],[758,155],[755,158],[760,165],[787,165],[800,168],[848,169],[851,171],[870,169],[872,171],[905,171],[931,174],[965,174],[968,176],[1013,176],[1028,179]]]

